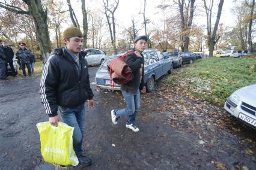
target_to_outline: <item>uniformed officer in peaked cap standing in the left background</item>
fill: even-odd
[[[29,50],[26,49],[24,42],[19,43],[19,50],[16,53],[17,59],[20,60],[20,63],[22,65],[22,73],[24,76],[26,76],[26,68],[28,69],[28,75],[31,76],[31,68],[30,68],[30,60],[29,58],[32,57],[32,54],[29,52]]]

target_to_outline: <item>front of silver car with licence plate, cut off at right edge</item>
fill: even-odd
[[[256,84],[242,87],[227,98],[224,108],[232,116],[256,129]]]

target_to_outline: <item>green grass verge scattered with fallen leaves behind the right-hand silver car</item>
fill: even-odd
[[[256,83],[256,58],[209,57],[179,69],[163,81],[177,93],[223,105],[235,90]]]

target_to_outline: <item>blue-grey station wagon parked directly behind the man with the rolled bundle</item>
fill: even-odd
[[[154,89],[155,80],[166,73],[171,74],[173,69],[172,59],[165,58],[162,52],[156,49],[145,50],[142,54],[144,55],[144,83],[147,92],[151,92]],[[102,89],[120,90],[119,84],[115,84],[114,87],[112,87],[107,65],[111,60],[122,55],[123,53],[114,54],[103,61],[96,72],[95,78],[97,87]]]

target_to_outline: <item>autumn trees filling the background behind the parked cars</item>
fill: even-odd
[[[61,33],[68,26],[81,29],[84,48],[102,48],[109,54],[132,48],[139,32],[148,37],[148,48],[162,51],[207,49],[212,56],[213,50],[230,50],[231,46],[250,52],[255,49],[255,0],[232,1],[232,20],[236,23],[232,27],[219,23],[224,0],[162,0],[155,11],[147,10],[152,1],[142,0],[129,26],[121,26],[116,19],[120,1],[124,0],[102,0],[92,5],[92,1],[85,0],[1,0],[0,39],[15,48],[23,41],[43,59],[54,48],[64,46]],[[157,22],[147,17],[155,12],[162,14]],[[129,13],[129,9],[123,13]],[[194,23],[200,16],[206,20]]]

